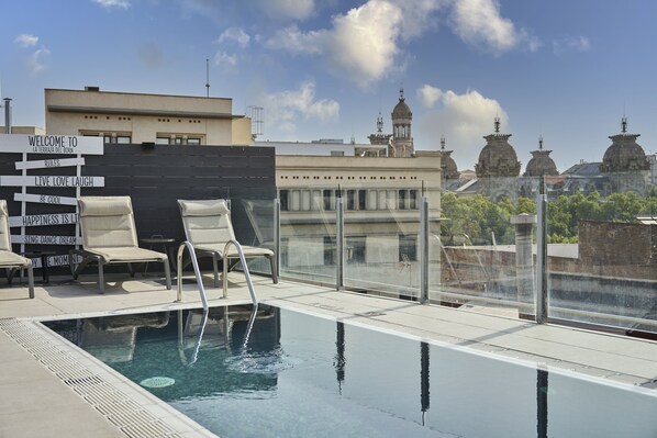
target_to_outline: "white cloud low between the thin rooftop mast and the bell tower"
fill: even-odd
[[[315,99],[315,85],[312,81],[303,82],[297,90],[267,96],[265,109],[268,124],[288,135],[296,132],[297,121],[333,122],[339,115],[339,103],[332,99]]]

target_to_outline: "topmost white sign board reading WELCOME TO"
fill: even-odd
[[[0,153],[102,155],[103,138],[73,135],[0,134]]]

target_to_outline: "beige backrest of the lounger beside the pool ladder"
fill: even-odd
[[[225,200],[178,200],[185,235],[192,245],[225,244],[235,238]]]

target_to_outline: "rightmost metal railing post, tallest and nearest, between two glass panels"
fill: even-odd
[[[547,323],[547,194],[541,177],[536,199],[536,323]]]

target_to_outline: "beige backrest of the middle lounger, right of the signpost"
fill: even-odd
[[[138,246],[130,196],[81,196],[78,207],[85,248]]]

